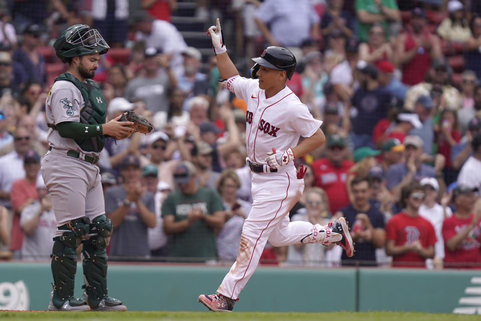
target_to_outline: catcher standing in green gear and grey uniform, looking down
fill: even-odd
[[[104,197],[96,166],[104,135],[127,136],[132,122],[105,123],[105,98],[90,80],[100,55],[110,48],[96,29],[86,25],[67,28],[54,43],[57,56],[67,63],[66,73],[55,79],[46,102],[49,151],[42,161],[42,176],[52,195],[57,236],[52,249],[54,290],[49,310],[127,309],[107,294],[107,251],[112,221],[105,216]],[[85,292],[74,297],[77,248],[83,243]],[[86,305],[88,303],[88,305]]]

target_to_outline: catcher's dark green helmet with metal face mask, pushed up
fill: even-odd
[[[91,29],[87,25],[74,25],[60,34],[54,48],[57,57],[67,62],[66,58],[96,53],[103,55],[110,47],[97,29]]]

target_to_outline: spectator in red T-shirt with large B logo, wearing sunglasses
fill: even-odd
[[[424,188],[419,184],[404,186],[401,202],[405,209],[386,224],[386,254],[392,256],[393,266],[424,267],[425,260],[434,257],[436,233],[418,213],[424,196]]]

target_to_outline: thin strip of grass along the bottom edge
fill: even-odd
[[[478,315],[430,314],[418,312],[48,312],[48,311],[0,311],[2,320],[89,320],[89,321],[143,321],[143,320],[262,320],[262,321],[464,321],[479,320]]]

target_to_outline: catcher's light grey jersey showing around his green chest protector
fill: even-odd
[[[84,98],[80,90],[72,82],[56,81],[47,97],[45,108],[47,123],[57,125],[64,121],[80,122],[80,110],[84,105]],[[98,130],[100,130],[100,125]],[[58,130],[52,128],[49,128],[47,139],[50,146],[54,148],[82,151],[91,156],[98,155],[92,151],[83,151],[74,139],[62,137]]]

